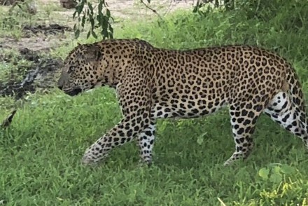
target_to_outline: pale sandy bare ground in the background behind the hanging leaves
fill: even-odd
[[[153,13],[150,9],[146,8],[144,4],[141,4],[140,1],[134,0],[109,0],[108,8],[111,11],[111,15],[118,20],[151,20],[151,17],[154,15],[160,15],[164,17],[168,13],[175,11],[179,8],[193,8],[195,5],[195,0],[187,0],[187,1],[174,1],[174,0],[152,0],[151,4],[147,4],[149,7],[153,8],[157,11],[158,14]],[[145,1],[146,2],[146,1]],[[40,0],[37,3],[38,5],[38,13],[45,12],[43,9],[46,6],[60,6],[59,1],[56,0]],[[43,6],[43,7],[42,7]],[[66,39],[66,36],[57,35],[55,38],[55,34],[63,33],[59,31],[60,27],[64,28],[64,31],[71,32],[73,25],[76,23],[76,20],[72,19],[74,9],[61,9],[61,11],[53,11],[51,13],[50,19],[43,19],[41,22],[42,25],[38,25],[36,28],[25,29],[25,36],[16,40],[14,38],[10,38],[6,36],[5,38],[0,38],[0,45],[3,48],[29,48],[31,50],[48,50],[49,48],[54,48],[62,41]],[[51,26],[50,26],[51,24]],[[58,25],[59,27],[53,27],[54,25]],[[27,31],[28,30],[28,31]],[[30,31],[29,31],[30,30]],[[33,34],[31,34],[31,32]],[[52,36],[50,36],[50,34]],[[72,36],[73,38],[73,36]]]

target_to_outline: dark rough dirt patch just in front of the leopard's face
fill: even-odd
[[[0,81],[1,96],[14,96],[15,99],[20,99],[27,92],[55,87],[55,77],[58,74],[57,71],[63,66],[62,60],[40,56],[38,52],[27,48],[20,50],[20,57],[18,58],[28,60],[32,64],[29,67],[18,68],[20,71],[26,71],[22,80],[16,81],[16,79],[20,79],[18,74],[11,74],[8,81]],[[12,58],[0,56],[1,59],[10,62]]]

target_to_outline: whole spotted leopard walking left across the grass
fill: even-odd
[[[78,43],[64,60],[57,87],[75,96],[104,85],[116,89],[123,118],[85,150],[85,165],[106,160],[111,150],[132,140],[139,146],[141,163],[151,165],[159,119],[199,118],[223,107],[229,111],[235,142],[223,165],[251,153],[261,114],[308,147],[300,79],[285,58],[265,48],[172,50],[142,39]]]

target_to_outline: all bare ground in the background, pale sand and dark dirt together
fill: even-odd
[[[157,13],[146,8],[140,1],[132,0],[109,0],[108,6],[111,15],[118,22],[121,20],[149,20],[154,15],[164,17],[178,8],[192,8],[194,1],[153,0],[148,4]],[[57,48],[73,38],[73,25],[76,20],[72,19],[74,9],[61,8],[59,1],[39,0],[36,2],[38,13],[36,21],[31,25],[23,25],[20,38],[3,36],[0,38],[0,51],[18,50],[18,58],[0,53],[0,62],[17,64],[20,59],[31,62],[30,66],[19,66],[15,70],[21,74],[10,74],[10,78],[0,78],[0,96],[13,96],[20,99],[27,92],[34,92],[38,88],[48,89],[55,86],[55,76],[62,67],[62,60],[48,55],[51,48]],[[9,7],[6,7],[8,11]],[[14,8],[18,9],[18,7]],[[45,15],[49,12],[49,15]],[[43,14],[43,15],[42,15]],[[113,25],[116,27],[117,24]],[[14,62],[15,61],[15,62]],[[22,75],[22,78],[20,78]]]

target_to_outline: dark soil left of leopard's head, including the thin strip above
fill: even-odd
[[[25,26],[23,28],[26,38],[39,34],[49,36],[71,31],[71,28],[57,24]],[[2,47],[4,48],[0,45],[0,48]],[[0,53],[0,61],[12,62],[17,67],[12,69],[9,79],[0,81],[0,96],[14,96],[15,99],[20,99],[27,92],[55,87],[57,71],[62,69],[62,60],[42,55],[42,51],[34,51],[28,48],[20,48],[19,52],[18,57]],[[30,66],[20,66],[18,65],[20,60],[27,60],[31,64]],[[20,80],[22,74],[25,75]]]

